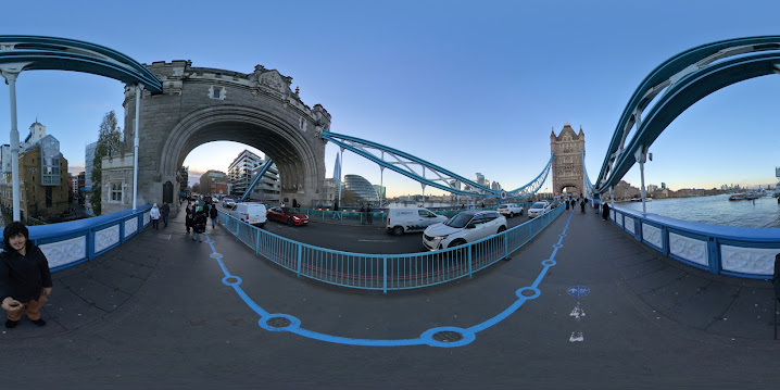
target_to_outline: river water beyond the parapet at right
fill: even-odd
[[[642,202],[616,203],[618,209],[642,212]],[[776,198],[729,201],[729,194],[697,198],[654,199],[647,213],[705,224],[742,227],[780,227],[780,204]]]

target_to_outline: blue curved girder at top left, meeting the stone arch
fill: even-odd
[[[100,45],[67,38],[0,35],[0,68],[81,72],[141,85],[152,95],[163,91],[162,81],[131,58]]]

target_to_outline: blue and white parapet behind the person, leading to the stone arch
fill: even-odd
[[[60,271],[116,248],[149,225],[151,205],[60,224],[29,226],[29,239]],[[4,228],[0,228],[0,235]]]

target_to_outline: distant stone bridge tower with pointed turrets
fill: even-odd
[[[584,133],[576,134],[568,123],[564,125],[561,134],[555,136],[555,128],[550,135],[550,151],[553,158],[553,192],[584,193],[584,176],[582,169],[582,154],[584,151]]]

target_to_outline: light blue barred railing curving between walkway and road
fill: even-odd
[[[403,290],[471,277],[508,257],[564,212],[557,207],[501,234],[435,252],[365,254],[324,249],[277,236],[219,211],[221,225],[255,254],[327,284],[368,290]],[[422,243],[420,243],[422,246]]]

